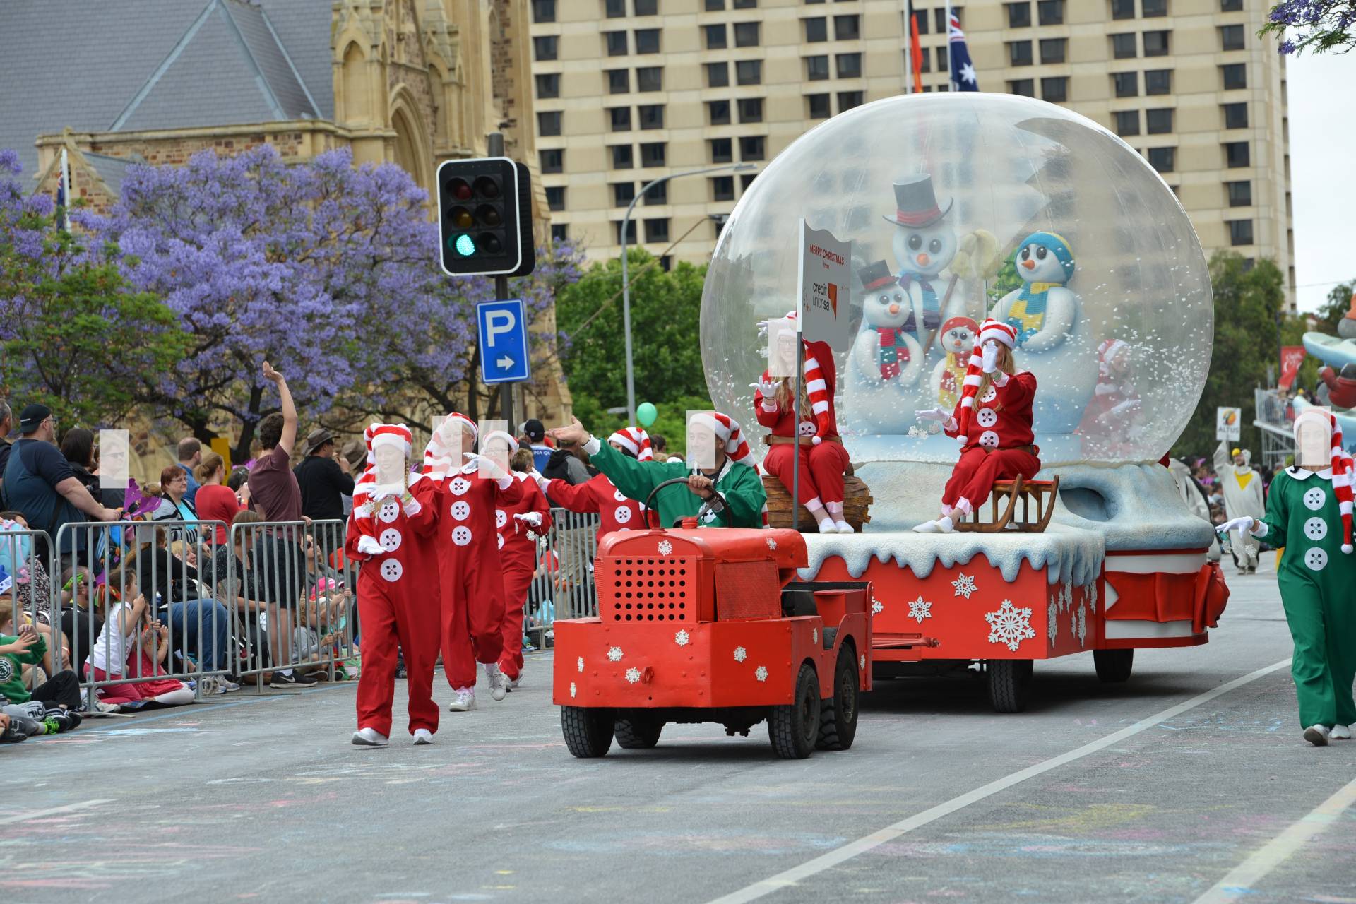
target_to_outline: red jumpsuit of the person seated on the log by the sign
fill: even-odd
[[[834,413],[834,390],[838,377],[834,370],[834,354],[826,343],[805,343],[805,396],[810,400],[810,411],[800,412],[800,436],[819,436],[822,443],[810,446],[801,443],[800,450],[800,504],[814,503],[841,503],[843,500],[843,472],[848,470],[848,450],[843,449],[838,438],[838,419]],[[763,381],[770,379],[765,370]],[[789,408],[767,411],[763,408],[763,394],[754,392],[754,412],[758,423],[772,430],[773,436],[795,436],[796,409],[795,403]],[[795,474],[795,453],[797,446],[792,443],[773,443],[763,458],[763,470],[781,481],[781,485],[792,488]]]

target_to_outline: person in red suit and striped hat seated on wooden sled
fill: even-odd
[[[915,412],[921,420],[940,423],[948,436],[960,442],[960,461],[942,492],[941,515],[915,526],[915,531],[951,533],[956,520],[984,504],[997,481],[1017,474],[1031,480],[1040,470],[1040,449],[1032,445],[1031,430],[1036,377],[1017,370],[1016,344],[1016,329],[986,320],[979,327],[956,409]]]

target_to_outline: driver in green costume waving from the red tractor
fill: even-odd
[[[767,493],[739,422],[732,417],[719,412],[693,415],[687,427],[689,462],[636,461],[591,436],[578,419],[572,420],[567,427],[552,430],[551,435],[557,442],[580,443],[593,466],[606,474],[622,496],[643,503],[666,480],[682,477],[687,481],[686,487],[664,487],[655,496],[654,506],[664,527],[689,516],[698,518],[698,527],[766,526]],[[700,449],[713,449],[715,454],[701,461],[700,455],[693,455]]]

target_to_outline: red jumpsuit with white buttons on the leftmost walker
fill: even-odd
[[[410,492],[414,495],[410,511],[400,504],[399,496],[358,506],[348,518],[344,538],[344,556],[361,562],[358,728],[372,728],[388,737],[397,646],[405,655],[410,733],[414,735],[416,728],[438,731],[433,670],[438,663],[441,610],[438,595],[430,592],[438,580],[438,558],[433,548],[435,491],[427,480],[419,480]],[[384,552],[359,550],[365,537],[374,539]]]

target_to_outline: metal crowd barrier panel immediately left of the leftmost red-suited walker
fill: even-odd
[[[324,670],[354,655],[357,562],[343,520],[244,522],[231,527],[226,595],[240,629],[236,675]]]

